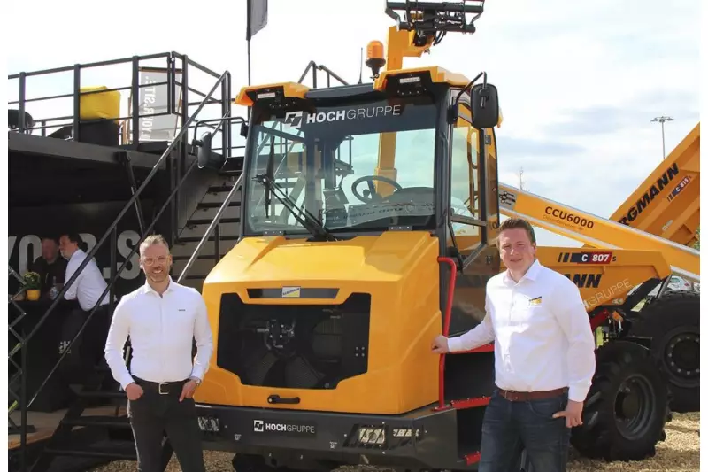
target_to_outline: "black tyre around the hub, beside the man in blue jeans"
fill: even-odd
[[[583,407],[582,422],[573,428],[571,444],[590,459],[644,460],[656,454],[656,445],[666,439],[665,425],[671,421],[669,394],[663,375],[640,344],[612,341],[596,353],[596,375]],[[639,440],[627,440],[615,426],[614,399],[621,381],[629,373],[642,372],[650,379],[658,400],[652,428]],[[658,413],[660,412],[660,413]]]

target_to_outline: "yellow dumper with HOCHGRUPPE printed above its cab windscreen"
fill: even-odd
[[[496,88],[398,61],[473,32],[466,14],[482,11],[387,2],[397,27],[386,70],[369,45],[373,83],[239,93],[242,237],[204,281],[215,355],[196,394],[205,445],[235,452],[236,469],[477,468],[494,348],[434,356],[430,341],[479,324],[501,270]],[[664,276],[652,254],[621,257]],[[665,436],[666,383],[642,344],[607,341],[573,444],[640,460]]]

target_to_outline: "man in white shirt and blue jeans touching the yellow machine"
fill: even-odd
[[[507,270],[487,283],[487,315],[459,337],[436,337],[433,352],[495,343],[496,389],[484,414],[480,472],[511,470],[522,447],[534,470],[565,472],[570,431],[582,424],[595,373],[588,314],[573,282],[535,259],[527,221],[504,221],[498,242]]]

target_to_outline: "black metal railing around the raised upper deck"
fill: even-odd
[[[109,68],[119,67],[119,70]],[[64,75],[63,74],[68,74]],[[194,77],[192,77],[194,75]],[[62,80],[62,79],[65,80]],[[125,78],[125,79],[124,79]],[[81,125],[101,120],[112,120],[119,124],[117,145],[136,148],[140,143],[150,141],[171,141],[189,118],[190,107],[201,104],[206,94],[200,91],[196,83],[204,83],[219,78],[219,74],[196,63],[184,54],[164,52],[131,58],[119,58],[89,64],[56,67],[33,72],[21,72],[8,76],[9,89],[17,81],[17,97],[8,102],[11,113],[15,112],[10,123],[12,131],[58,137],[81,141]],[[27,81],[46,81],[36,89],[66,89],[65,93],[36,95],[28,87]],[[82,82],[90,81],[90,85]],[[117,81],[117,87],[105,87],[101,84]],[[126,83],[127,82],[127,83]],[[64,90],[63,90],[64,91]],[[30,93],[28,93],[30,92]],[[119,93],[119,116],[105,116],[101,119],[81,118],[82,98],[96,94]],[[127,97],[123,95],[127,92]],[[198,99],[191,100],[192,94]],[[214,117],[224,116],[230,109],[231,81],[222,83],[220,97],[209,97],[209,105],[219,105],[220,111]],[[127,100],[124,100],[127,98]],[[71,99],[72,103],[66,101]],[[64,100],[65,105],[52,106],[49,102]],[[30,110],[31,108],[35,110]],[[57,113],[57,109],[61,112]],[[124,112],[124,110],[126,112]],[[52,112],[53,111],[53,112]],[[47,116],[49,115],[49,116]],[[170,128],[156,129],[156,123],[166,127],[165,120],[171,120]],[[53,132],[51,130],[54,130]],[[221,149],[231,145],[228,133],[222,133]]]

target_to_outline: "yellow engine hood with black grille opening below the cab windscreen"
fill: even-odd
[[[435,402],[439,357],[430,352],[430,342],[442,329],[438,253],[437,238],[426,232],[389,231],[317,243],[281,236],[243,239],[204,282],[214,355],[197,401],[381,414]],[[253,289],[261,289],[261,295],[251,298]],[[232,315],[220,313],[222,294],[236,293],[250,306],[312,306],[341,305],[357,292],[371,295],[366,373],[342,380],[335,389],[306,390],[243,384],[219,367],[219,343],[233,338],[226,332],[219,338],[221,317]],[[298,397],[300,403],[272,405],[270,395]]]

